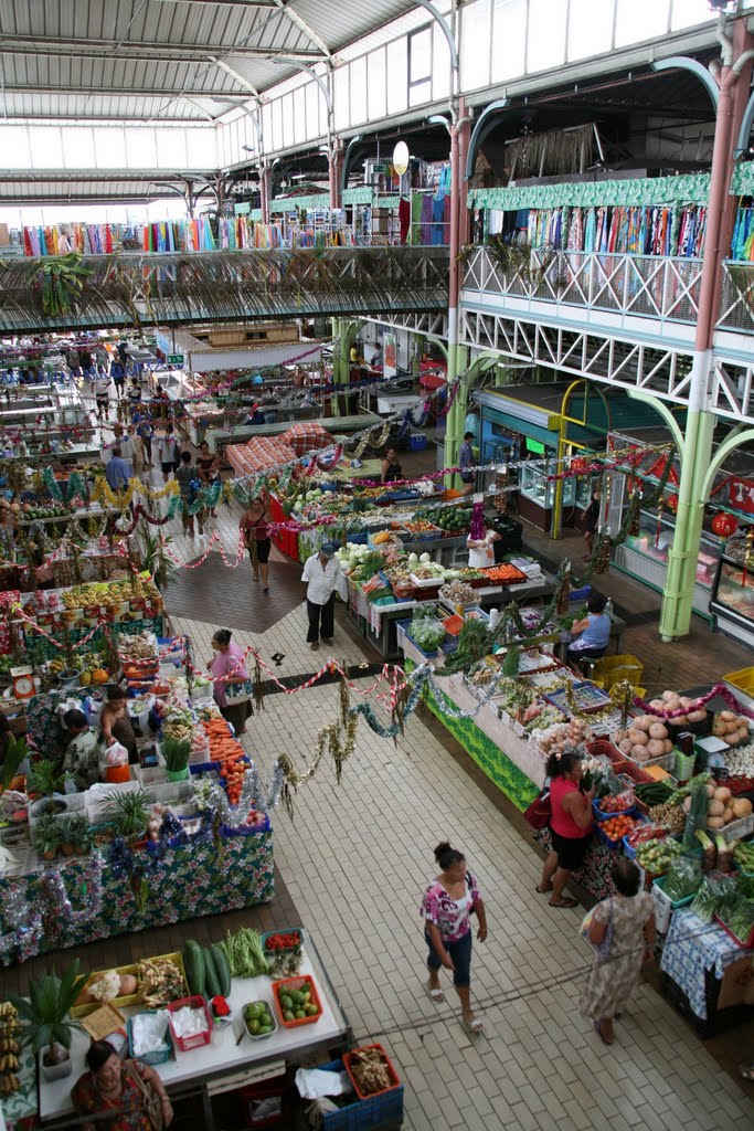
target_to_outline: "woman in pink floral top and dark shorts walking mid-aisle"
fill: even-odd
[[[440,967],[452,970],[453,985],[461,999],[461,1024],[468,1033],[480,1033],[482,1021],[477,1021],[471,1011],[470,916],[474,913],[479,921],[479,942],[487,938],[487,916],[463,854],[444,840],[435,848],[434,858],[440,865],[440,875],[424,892],[421,909],[425,921],[424,938],[430,947],[427,993],[434,1002],[443,1002]]]

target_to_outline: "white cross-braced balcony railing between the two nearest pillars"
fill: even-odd
[[[589,310],[694,323],[701,277],[701,259],[544,249],[522,256],[514,252],[511,262],[505,264],[488,248],[476,248],[467,262],[463,286]],[[752,328],[751,319],[746,328]]]

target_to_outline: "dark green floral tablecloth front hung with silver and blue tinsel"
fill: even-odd
[[[275,893],[272,832],[227,836],[190,841],[171,848],[148,877],[149,897],[144,914],[137,909],[127,875],[116,874],[109,849],[103,852],[101,880],[93,857],[77,857],[50,871],[60,877],[73,913],[85,908],[90,915],[70,922],[60,913],[53,898],[55,888],[44,882],[41,869],[0,881],[0,907],[20,891],[34,912],[43,913],[43,931],[33,942],[25,942],[25,956],[47,953],[66,947],[80,947],[96,939],[109,939],[132,931],[144,931],[166,923],[219,915],[239,907],[267,903]],[[76,916],[78,920],[78,915]],[[11,924],[0,914],[0,934]],[[35,943],[35,944],[34,944]],[[10,961],[17,960],[11,957]]]

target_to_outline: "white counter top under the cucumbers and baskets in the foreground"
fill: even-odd
[[[211,1043],[193,1048],[190,1052],[176,1050],[174,1059],[156,1067],[156,1071],[167,1088],[174,1093],[179,1086],[194,1083],[197,1090],[225,1090],[220,1087],[224,1076],[237,1078],[233,1082],[242,1086],[245,1072],[251,1072],[263,1063],[289,1060],[293,1062],[309,1060],[313,1053],[321,1052],[321,1061],[330,1059],[329,1051],[345,1047],[350,1035],[350,1026],[343,1011],[335,988],[327,975],[322,960],[317,951],[311,935],[302,931],[304,941],[302,974],[313,976],[322,1003],[322,1015],[311,1025],[298,1025],[287,1029],[280,1025],[280,1019],[271,1005],[277,1029],[263,1041],[252,1041],[244,1036],[243,1007],[251,1001],[271,1003],[271,982],[268,977],[233,978],[231,993],[227,996],[232,1009],[232,1021],[228,1025],[215,1026]],[[133,1013],[138,1010],[125,1010]],[[72,1113],[70,1090],[79,1076],[85,1071],[84,1055],[89,1043],[85,1033],[73,1033],[71,1056],[72,1073],[63,1080],[43,1080],[40,1086],[40,1117],[43,1122],[58,1120]],[[233,1086],[228,1081],[228,1087]],[[213,1083],[216,1085],[213,1088]],[[209,1087],[207,1087],[209,1086]],[[185,1091],[185,1087],[180,1089]],[[199,1117],[197,1121],[199,1125]],[[203,1125],[203,1124],[202,1124]]]

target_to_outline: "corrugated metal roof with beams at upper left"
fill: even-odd
[[[102,116],[107,103],[116,119],[201,118],[181,95],[267,89],[295,72],[271,57],[313,62],[414,7],[413,0],[0,0],[0,114],[80,120]],[[227,110],[210,106],[213,116]]]

